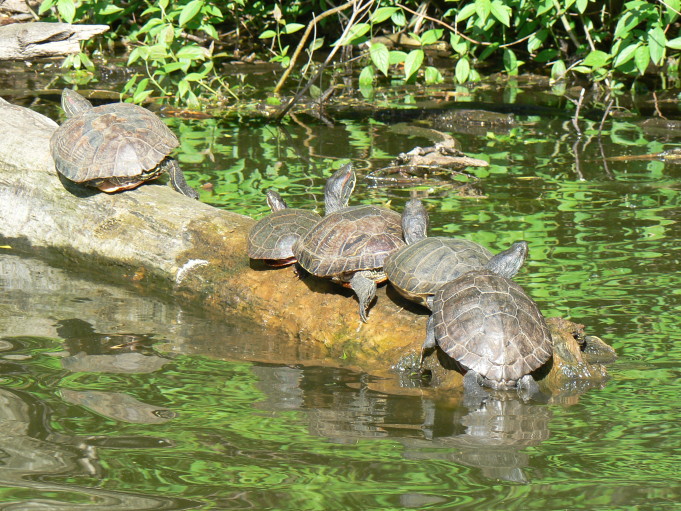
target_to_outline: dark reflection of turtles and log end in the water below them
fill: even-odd
[[[253,371],[267,396],[256,406],[306,410],[315,435],[339,444],[392,438],[407,459],[451,461],[494,480],[528,482],[530,456],[524,449],[549,438],[550,409],[509,393],[389,395],[371,390],[372,377],[347,371],[290,366]]]

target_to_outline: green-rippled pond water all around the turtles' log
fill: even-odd
[[[489,167],[410,188],[367,177],[431,143],[394,120],[168,122],[190,184],[219,207],[259,217],[275,187],[321,209],[324,179],[352,160],[356,202],[401,210],[416,194],[433,234],[494,251],[527,240],[516,280],[617,350],[602,388],[462,401],[276,364],[283,340],[258,325],[4,249],[0,509],[681,509],[681,166],[604,160],[675,148],[681,132],[615,118],[599,138],[595,113],[580,138],[560,97],[513,101],[555,110],[453,132]]]

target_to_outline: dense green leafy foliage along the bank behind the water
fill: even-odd
[[[40,13],[109,24],[109,41],[129,49],[128,65],[136,72],[125,91],[138,102],[152,93],[190,105],[224,97],[236,85],[219,72],[230,60],[264,57],[309,77],[319,66],[315,52],[339,48],[343,59],[358,58],[366,88],[384,79],[474,82],[483,72],[515,75],[522,69],[550,73],[554,81],[580,75],[613,89],[644,75],[659,76],[662,86],[678,80],[681,0],[329,4],[44,0]],[[437,65],[431,62],[436,53],[445,55]],[[81,80],[93,69],[86,53],[65,64],[85,70]]]

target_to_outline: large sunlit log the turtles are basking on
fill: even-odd
[[[49,151],[56,126],[0,98],[0,245],[162,286],[218,313],[236,312],[339,366],[382,374],[417,359],[425,310],[384,286],[363,324],[354,296],[330,281],[300,280],[290,268],[251,262],[248,217],[153,183],[109,195],[62,182]],[[436,357],[428,363],[437,364]],[[448,379],[440,374],[438,383],[447,386]]]

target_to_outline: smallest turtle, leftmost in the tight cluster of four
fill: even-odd
[[[270,266],[296,262],[293,244],[314,227],[322,217],[314,211],[289,208],[274,190],[267,190],[272,213],[257,222],[248,234],[248,257],[262,259]]]

